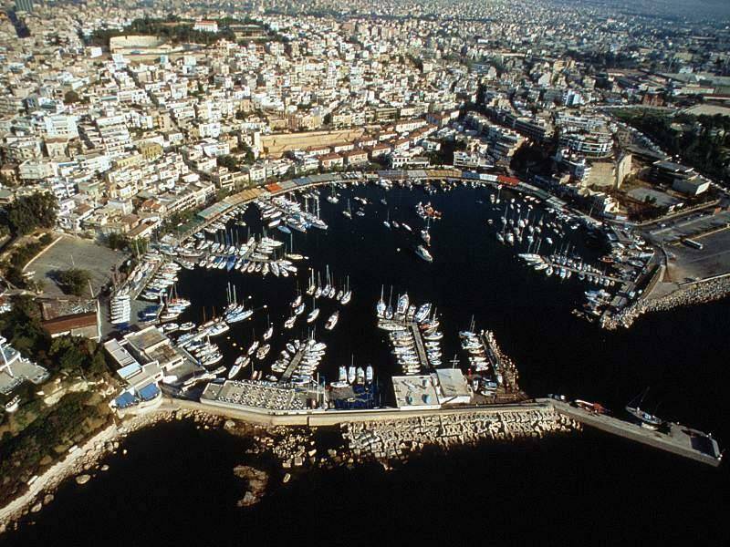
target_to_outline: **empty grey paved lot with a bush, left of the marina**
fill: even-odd
[[[33,279],[43,282],[46,296],[61,296],[53,274],[58,270],[78,268],[91,274],[94,294],[110,280],[112,268],[119,266],[126,255],[89,240],[62,235],[44,253],[26,265],[26,272],[35,272]]]

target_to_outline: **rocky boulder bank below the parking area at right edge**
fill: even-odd
[[[620,313],[601,320],[601,326],[607,330],[616,330],[620,326],[629,328],[642,314],[713,302],[725,298],[728,294],[730,294],[730,278],[727,277],[684,286],[660,298],[641,298]]]

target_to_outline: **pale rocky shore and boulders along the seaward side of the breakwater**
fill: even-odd
[[[64,480],[75,477],[79,487],[83,487],[99,473],[109,470],[109,466],[99,465],[101,459],[118,451],[120,441],[130,433],[161,422],[183,419],[193,420],[198,428],[222,428],[229,434],[251,439],[252,444],[245,450],[245,455],[268,457],[280,466],[281,471],[277,473],[259,469],[266,468],[266,465],[256,464],[253,467],[250,461],[237,465],[233,474],[245,480],[243,496],[237,503],[239,507],[249,507],[260,501],[273,484],[272,478],[286,484],[293,475],[296,477],[297,473],[308,469],[352,468],[358,463],[374,460],[389,470],[394,463],[405,463],[427,446],[449,449],[474,445],[486,439],[541,438],[548,433],[567,433],[581,428],[577,422],[558,414],[553,408],[485,409],[345,423],[339,432],[331,428],[328,433],[334,435],[319,442],[318,428],[264,427],[199,410],[155,408],[124,418],[119,424],[101,431],[47,470],[26,494],[0,510],[0,533],[15,529],[20,519],[41,511],[44,505],[52,502],[54,492]],[[126,453],[126,449],[122,450]],[[259,463],[263,464],[264,460],[260,459]]]

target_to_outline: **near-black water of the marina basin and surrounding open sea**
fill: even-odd
[[[339,211],[348,195],[370,198],[363,218],[348,221]],[[433,264],[412,253],[416,235],[389,232],[381,224],[385,196],[391,219],[422,227],[416,201],[433,201],[443,221],[432,227]],[[510,196],[503,194],[503,198]],[[587,287],[560,282],[527,269],[495,241],[487,218],[498,219],[484,189],[459,189],[425,196],[422,191],[391,192],[358,188],[338,205],[321,201],[328,232],[295,233],[295,252],[310,257],[324,274],[329,264],[339,282],[349,274],[352,302],[334,332],[324,320],[335,309],[321,304],[318,338],[328,344],[321,372],[337,366],[372,363],[376,374],[399,371],[374,327],[373,309],[386,286],[407,290],[412,301],[438,306],[444,356],[456,353],[456,333],[472,315],[478,328],[495,331],[512,356],[521,385],[535,396],[547,392],[600,400],[620,410],[644,387],[650,404],[664,418],[682,420],[721,439],[730,439],[725,412],[728,375],[727,302],[704,304],[642,317],[628,331],[606,333],[570,315]],[[483,201],[483,202],[479,202]],[[352,201],[352,211],[358,205]],[[258,230],[255,214],[246,221]],[[539,216],[539,215],[538,215]],[[245,236],[245,229],[241,237]],[[584,234],[569,232],[587,257],[598,250],[584,245]],[[283,236],[276,232],[275,237]],[[400,251],[397,249],[400,248]],[[543,249],[544,250],[544,249]],[[300,268],[299,288],[307,285]],[[276,325],[271,356],[285,344],[281,323],[296,281],[266,280],[223,272],[188,273],[179,292],[205,306],[225,304],[225,283],[239,295],[267,305],[253,322],[219,338],[232,361],[266,329],[266,312]],[[311,303],[308,302],[308,308]],[[201,320],[202,308],[190,312]],[[184,318],[181,318],[184,320]],[[299,326],[304,325],[300,317]],[[304,329],[297,335],[306,335]],[[270,361],[270,359],[269,359]],[[412,544],[466,541],[527,543],[535,540],[638,542],[671,540],[721,544],[727,539],[726,466],[720,470],[647,449],[623,439],[585,431],[570,437],[508,445],[485,444],[447,456],[426,453],[401,470],[380,468],[317,471],[275,489],[253,509],[235,508],[243,485],[232,475],[245,461],[245,441],[203,431],[186,423],[163,425],[134,435],[130,453],[110,457],[108,474],[83,488],[59,490],[57,501],[36,516],[34,526],[0,542],[40,544],[64,538],[71,544],[241,544],[315,542],[325,544]]]

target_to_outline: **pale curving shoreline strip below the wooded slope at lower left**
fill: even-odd
[[[130,433],[143,428],[150,428],[162,421],[172,419],[193,419],[205,427],[218,425],[221,418],[200,411],[158,406],[145,409],[139,414],[122,418],[103,428],[87,439],[78,449],[70,452],[64,459],[54,463],[28,487],[28,490],[0,508],[0,534],[16,528],[18,521],[30,512],[40,511],[44,505],[52,502],[54,492],[60,484],[72,477],[77,477],[78,484],[83,485],[98,472],[99,461],[120,448],[120,440]]]

